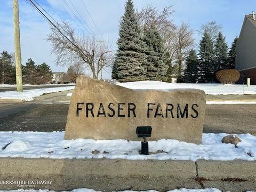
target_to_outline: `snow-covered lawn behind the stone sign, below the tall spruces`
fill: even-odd
[[[220,83],[166,83],[159,81],[140,81],[129,83],[117,83],[129,89],[153,89],[153,90],[173,90],[173,89],[199,89],[209,95],[229,95],[229,94],[256,94],[256,85],[247,87],[242,84],[222,85]]]

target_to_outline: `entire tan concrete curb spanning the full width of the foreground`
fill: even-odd
[[[51,185],[35,185],[33,189],[52,190],[166,191],[179,187],[202,188],[204,182],[212,182],[215,188],[219,188],[220,182],[225,186],[239,182],[243,189],[253,190],[256,188],[255,167],[256,162],[247,161],[195,163],[172,160],[0,158],[0,179],[50,180]],[[214,184],[216,182],[218,185]],[[248,182],[251,186],[248,186]],[[0,185],[0,189],[16,188],[17,185]]]

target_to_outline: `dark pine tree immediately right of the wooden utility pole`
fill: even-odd
[[[26,62],[26,66],[23,67],[22,74],[26,83],[37,84],[38,70],[35,62],[31,58],[28,59],[28,62]]]

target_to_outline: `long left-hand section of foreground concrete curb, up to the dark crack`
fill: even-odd
[[[0,158],[0,170],[0,181],[52,181],[51,185],[36,185],[33,189],[166,191],[177,187],[200,187],[194,180],[196,169],[192,161]],[[0,185],[0,189],[17,189],[17,185]]]

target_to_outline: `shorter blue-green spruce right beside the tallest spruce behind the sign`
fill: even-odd
[[[146,44],[147,62],[144,67],[147,70],[147,79],[165,80],[168,66],[166,65],[164,41],[154,25],[146,29],[143,40]]]

